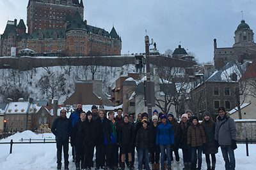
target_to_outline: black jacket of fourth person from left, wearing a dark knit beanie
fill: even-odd
[[[83,122],[83,139],[84,143],[88,143],[90,145],[94,144],[97,138],[97,128],[95,127],[94,120],[89,122],[87,119]]]

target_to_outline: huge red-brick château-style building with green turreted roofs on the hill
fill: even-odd
[[[115,27],[108,32],[84,20],[83,0],[29,0],[24,20],[8,20],[1,34],[0,56],[29,48],[35,55],[120,55],[122,40]],[[13,48],[13,49],[12,49]]]

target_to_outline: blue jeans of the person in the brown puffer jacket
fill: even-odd
[[[198,159],[198,169],[202,167],[202,150],[203,146],[191,147],[191,169],[196,169],[196,162]]]

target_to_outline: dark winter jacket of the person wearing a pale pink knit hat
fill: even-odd
[[[181,121],[179,124],[179,147],[182,149],[188,148],[188,128],[191,126],[190,122],[186,122],[185,124]]]

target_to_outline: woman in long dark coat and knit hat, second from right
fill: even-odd
[[[206,145],[203,148],[203,153],[205,154],[207,170],[214,170],[216,165],[215,154],[218,153],[218,148],[216,148],[216,143],[214,140],[215,122],[212,121],[211,113],[209,111],[204,112],[204,119],[201,125],[204,127],[206,137]],[[212,157],[212,166],[210,155]]]

